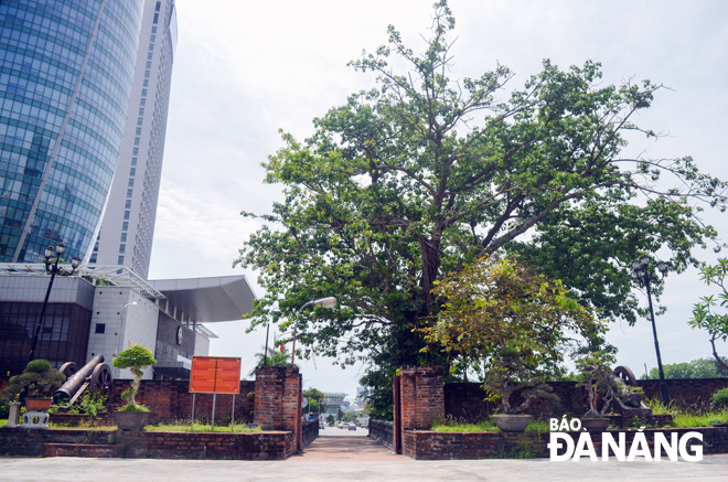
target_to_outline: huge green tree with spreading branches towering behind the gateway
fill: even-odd
[[[657,137],[634,117],[660,85],[607,85],[597,63],[548,61],[510,94],[502,65],[453,81],[453,28],[440,1],[417,54],[390,26],[388,45],[351,63],[376,87],[314,119],[304,141],[282,133],[264,167],[285,200],[235,261],[266,290],[251,329],[287,328],[307,301],[339,298],[301,315],[299,340],[307,353],[371,362],[363,382],[384,387],[368,394],[373,416],[386,416],[397,366],[440,362],[420,352],[417,329],[437,317],[433,282],[463,263],[518,251],[581,304],[633,322],[632,259],[664,249],[673,270],[697,263],[690,249],[716,232],[695,202],[725,207],[726,184],[690,158],[622,156],[624,131]]]

